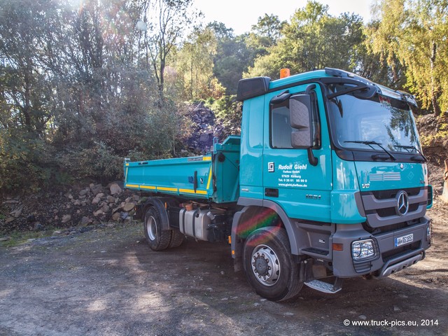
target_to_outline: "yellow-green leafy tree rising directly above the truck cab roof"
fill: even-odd
[[[244,76],[279,77],[281,68],[293,73],[325,66],[358,71],[359,46],[363,43],[363,22],[358,15],[328,14],[328,6],[309,1],[295,11],[282,30],[283,37],[260,56]]]

